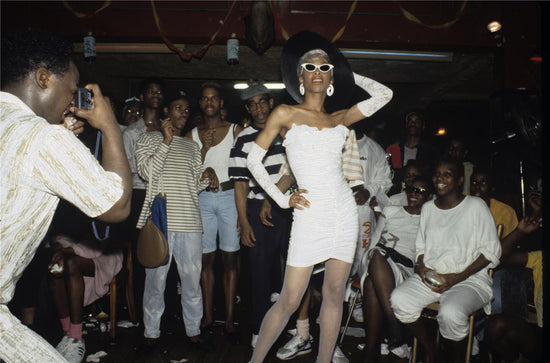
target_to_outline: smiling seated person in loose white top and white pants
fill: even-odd
[[[391,294],[395,316],[424,348],[424,363],[441,361],[420,319],[426,306],[439,302],[437,322],[446,357],[463,362],[468,318],[490,308],[493,297],[488,269],[499,264],[500,241],[487,204],[462,194],[463,172],[452,159],[438,162],[432,178],[437,198],[427,202],[420,215],[415,274]]]

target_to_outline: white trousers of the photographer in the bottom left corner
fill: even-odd
[[[11,362],[66,362],[40,335],[0,304],[0,359]]]

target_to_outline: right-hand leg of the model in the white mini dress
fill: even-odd
[[[323,282],[323,303],[321,304],[321,337],[319,339],[319,363],[330,363],[340,325],[346,281],[351,264],[330,259],[325,262],[325,280]]]

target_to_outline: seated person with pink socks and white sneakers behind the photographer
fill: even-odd
[[[122,252],[107,251],[93,241],[75,242],[67,235],[52,238],[49,286],[63,338],[56,349],[68,362],[81,362],[82,309],[109,292],[109,284],[122,268]],[[112,248],[109,241],[106,246]]]

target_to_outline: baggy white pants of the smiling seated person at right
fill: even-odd
[[[439,301],[437,322],[441,336],[460,341],[468,335],[470,315],[491,300],[490,297],[482,298],[467,281],[438,294],[426,286],[418,274],[414,274],[391,294],[391,307],[395,317],[404,324],[413,323],[420,317],[422,309]]]

